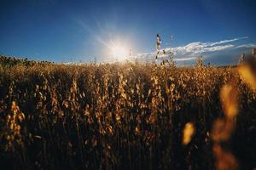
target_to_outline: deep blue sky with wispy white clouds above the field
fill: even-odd
[[[255,0],[1,0],[0,54],[105,61],[114,43],[143,58],[154,53],[159,33],[161,48],[176,50],[177,61],[202,54],[232,64],[256,44],[255,8]]]

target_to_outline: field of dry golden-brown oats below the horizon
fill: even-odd
[[[253,169],[256,93],[244,72],[1,65],[1,169]]]

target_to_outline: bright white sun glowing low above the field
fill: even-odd
[[[123,61],[128,59],[129,57],[129,48],[122,43],[113,43],[110,47],[110,53],[114,59],[118,59],[119,61]]]

